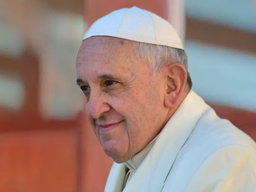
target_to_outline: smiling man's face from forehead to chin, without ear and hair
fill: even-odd
[[[129,40],[93,36],[77,54],[77,84],[86,97],[86,115],[105,154],[122,163],[163,128],[164,78],[136,58]]]

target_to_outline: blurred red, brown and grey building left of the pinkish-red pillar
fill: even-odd
[[[0,191],[81,191],[83,1],[0,2]]]

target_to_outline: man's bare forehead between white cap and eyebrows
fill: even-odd
[[[93,36],[83,41],[77,53],[77,77],[87,81],[87,77],[104,74],[124,74],[135,66],[136,54],[132,42],[109,36]]]

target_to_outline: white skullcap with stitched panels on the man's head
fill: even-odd
[[[114,36],[147,44],[184,49],[173,26],[158,15],[136,6],[116,10],[98,19],[84,35]]]

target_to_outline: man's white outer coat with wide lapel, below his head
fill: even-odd
[[[114,163],[105,192],[255,192],[256,143],[191,90],[124,188],[126,172]]]

